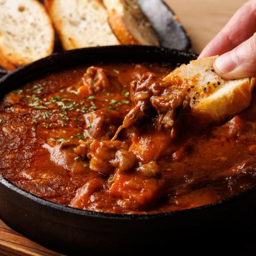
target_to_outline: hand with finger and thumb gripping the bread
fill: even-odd
[[[224,79],[256,77],[256,0],[243,5],[199,58],[220,55],[214,70]]]

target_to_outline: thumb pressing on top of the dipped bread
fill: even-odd
[[[214,70],[227,80],[256,76],[256,33],[232,51],[218,57]]]

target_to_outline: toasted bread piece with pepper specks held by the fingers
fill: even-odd
[[[176,82],[187,89],[194,117],[221,124],[250,106],[255,78],[221,79],[213,69],[216,58],[206,57],[183,64],[164,81]]]

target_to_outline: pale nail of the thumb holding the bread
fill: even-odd
[[[226,52],[220,57],[217,57],[214,63],[214,69],[217,73],[226,74],[236,68],[236,63],[232,59],[230,52]]]

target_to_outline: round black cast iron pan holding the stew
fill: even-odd
[[[75,65],[146,62],[172,64],[175,67],[195,58],[193,53],[146,46],[94,47],[55,53],[3,77],[0,80],[1,98],[35,77]],[[28,238],[65,254],[78,251],[83,254],[119,251],[123,254],[123,251],[151,252],[165,250],[165,247],[172,252],[175,248],[184,251],[195,237],[197,242],[193,242],[193,246],[202,249],[201,241],[208,241],[208,246],[214,246],[210,249],[212,251],[219,243],[219,237],[224,237],[226,241],[233,233],[237,236],[248,226],[254,226],[255,199],[256,188],[253,187],[229,199],[179,212],[108,214],[74,209],[40,199],[0,176],[2,220]],[[214,240],[210,238],[213,236]],[[204,240],[205,237],[207,239]]]

